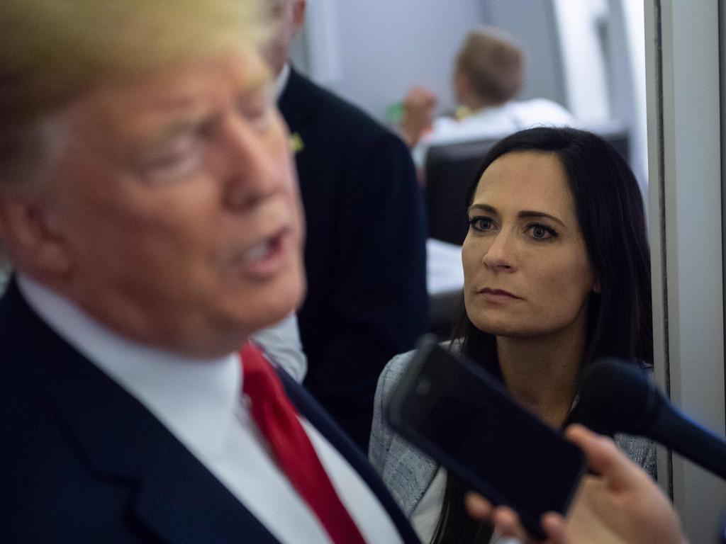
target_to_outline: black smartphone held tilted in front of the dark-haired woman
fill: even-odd
[[[547,511],[566,514],[584,454],[526,411],[481,366],[426,337],[386,408],[409,442],[543,537]]]

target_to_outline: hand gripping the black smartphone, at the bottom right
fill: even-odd
[[[612,440],[581,425],[566,431],[599,477],[585,476],[566,519],[544,514],[542,529],[547,544],[682,544],[685,537],[678,517],[652,479],[624,456]],[[534,542],[511,508],[493,508],[484,498],[470,493],[469,514],[489,519],[503,535]]]

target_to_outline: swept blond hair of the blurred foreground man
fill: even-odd
[[[259,0],[0,0],[0,179],[28,125],[94,81],[258,47],[266,18]]]

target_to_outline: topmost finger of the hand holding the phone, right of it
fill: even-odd
[[[620,487],[637,479],[637,467],[609,438],[578,424],[569,426],[565,434],[568,440],[582,448],[592,469],[601,474],[609,485]]]

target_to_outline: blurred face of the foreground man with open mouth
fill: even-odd
[[[62,112],[42,198],[67,296],[121,334],[197,356],[298,306],[303,219],[268,79],[235,54],[98,84]]]

